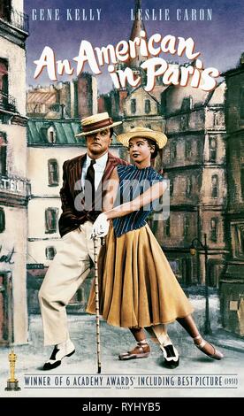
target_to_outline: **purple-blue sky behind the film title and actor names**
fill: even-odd
[[[41,6],[42,4],[42,6]],[[55,51],[57,59],[70,59],[79,53],[80,42],[87,40],[93,47],[114,46],[121,40],[128,40],[133,21],[131,9],[134,0],[24,0],[25,12],[29,15],[29,37],[27,38],[27,86],[49,85],[50,81],[46,70],[34,80],[34,60],[39,59],[45,46],[50,46]],[[162,36],[173,35],[175,37],[192,37],[195,42],[195,50],[201,51],[204,67],[213,66],[220,72],[235,67],[244,52],[244,1],[243,0],[141,0],[142,10],[149,9],[150,17],[152,9],[155,9],[156,17],[159,9],[169,9],[170,20],[162,19],[145,20],[144,24],[148,36],[159,33]],[[44,11],[44,20],[40,20],[40,9]],[[74,10],[84,9],[89,14],[90,9],[96,15],[96,9],[102,9],[101,20],[80,21],[74,20]],[[51,9],[54,15],[55,9],[59,9],[60,19],[47,20],[47,9]],[[66,19],[66,10],[71,9],[72,21]],[[211,20],[177,20],[177,9],[181,16],[187,9],[191,15],[192,9],[212,9]],[[36,20],[33,16],[36,14]],[[187,61],[187,58],[172,57],[167,54],[166,60]],[[75,78],[75,74],[72,75]],[[67,81],[71,76],[63,75],[58,81]],[[97,77],[98,89],[106,93],[112,88],[111,77],[104,68],[103,74]]]

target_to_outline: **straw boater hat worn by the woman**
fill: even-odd
[[[129,145],[130,139],[133,139],[134,137],[151,139],[153,142],[156,142],[159,149],[163,149],[163,147],[167,143],[167,136],[164,135],[164,133],[151,130],[150,128],[146,127],[133,127],[128,132],[123,133],[122,135],[118,135],[116,138],[118,142],[122,143],[124,146],[127,147]]]

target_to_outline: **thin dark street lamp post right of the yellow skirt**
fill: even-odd
[[[207,246],[207,235],[204,234],[204,244],[201,240],[195,237],[190,246],[190,253],[192,256],[195,255],[198,243],[202,250],[204,250],[205,258],[205,322],[204,322],[204,334],[210,335],[212,333],[210,327],[210,303],[209,303],[209,273],[208,273],[208,246]]]

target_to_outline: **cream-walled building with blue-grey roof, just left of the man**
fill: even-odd
[[[56,114],[57,115],[57,114]],[[63,164],[86,152],[86,139],[77,138],[80,119],[28,119],[28,177],[32,192],[28,205],[27,305],[29,313],[39,313],[37,293],[61,243],[58,219]],[[121,146],[113,138],[110,151],[120,155]],[[88,301],[91,273],[71,303],[69,312],[84,312]]]

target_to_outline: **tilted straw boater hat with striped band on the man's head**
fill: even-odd
[[[108,112],[100,112],[94,116],[81,119],[82,132],[75,136],[79,137],[80,135],[93,135],[94,133],[105,130],[106,128],[118,126],[118,124],[121,123],[122,121],[114,123]]]

